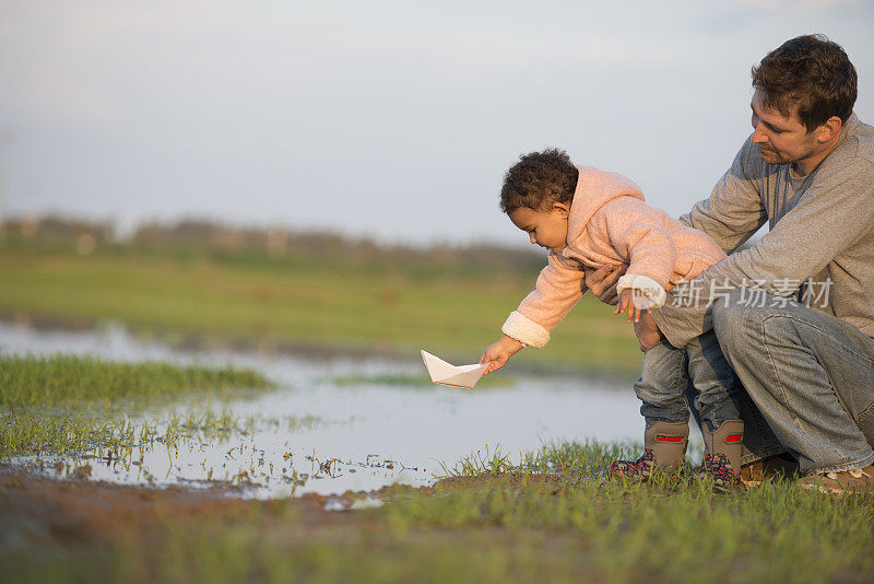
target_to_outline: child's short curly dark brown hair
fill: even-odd
[[[519,157],[504,176],[500,210],[550,209],[556,202],[574,199],[579,171],[564,150],[552,148]]]

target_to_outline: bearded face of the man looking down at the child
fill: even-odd
[[[753,102],[753,142],[758,144],[761,160],[768,164],[790,164],[814,156],[822,149],[814,130],[807,132],[792,106],[789,116],[773,107],[765,107],[765,96],[756,91]]]

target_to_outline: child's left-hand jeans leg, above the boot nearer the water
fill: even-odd
[[[729,370],[731,371],[731,370]],[[647,428],[656,422],[688,423],[685,390],[689,385],[686,352],[662,341],[643,353],[635,394]]]

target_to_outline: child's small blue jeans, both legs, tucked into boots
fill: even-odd
[[[635,393],[647,428],[656,422],[687,422],[689,412],[695,419],[716,430],[725,420],[737,420],[740,413],[733,400],[735,376],[722,357],[713,331],[676,348],[666,340],[643,353],[640,379]]]

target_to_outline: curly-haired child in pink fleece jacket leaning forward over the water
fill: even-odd
[[[504,336],[480,362],[485,373],[503,367],[522,347],[543,347],[550,330],[586,292],[583,267],[627,264],[616,290],[614,314],[628,322],[651,318],[666,291],[725,257],[705,233],[686,227],[643,202],[637,185],[615,173],[577,167],[564,151],[521,156],[506,174],[500,208],[531,243],[547,248],[548,265],[531,292],[504,323]],[[684,392],[697,390],[705,459],[699,472],[720,484],[740,481],[743,422],[731,399],[734,374],[712,331],[686,347],[661,341],[643,354],[635,393],[646,419],[645,451],[637,460],[615,460],[614,476],[646,480],[652,467],[675,471],[684,465],[688,409]]]

